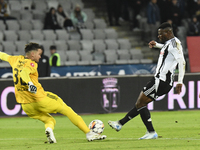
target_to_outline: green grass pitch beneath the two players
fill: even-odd
[[[28,117],[0,118],[0,150],[198,150],[200,149],[200,112],[151,112],[159,138],[138,140],[146,129],[140,116],[129,121],[122,130],[111,129],[107,121],[121,119],[125,113],[81,115],[86,124],[100,119],[105,124],[107,139],[88,142],[85,134],[65,116],[54,116],[57,124],[56,144],[45,143],[42,122]]]

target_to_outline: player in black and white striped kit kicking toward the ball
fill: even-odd
[[[173,86],[174,70],[178,65],[178,83],[176,92],[180,94],[185,74],[185,59],[181,42],[173,34],[172,26],[165,22],[158,28],[158,38],[164,43],[156,41],[149,42],[149,47],[160,48],[160,55],[154,77],[146,84],[141,91],[135,106],[119,121],[108,121],[108,124],[116,131],[120,131],[122,126],[140,114],[144,125],[147,128],[146,134],[139,139],[156,139],[158,134],[152,125],[151,115],[147,104],[156,101],[159,96],[167,94]]]

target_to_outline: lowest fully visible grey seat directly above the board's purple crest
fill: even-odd
[[[116,60],[118,59],[116,50],[114,49],[105,50],[104,54],[106,58],[106,64],[115,64]]]

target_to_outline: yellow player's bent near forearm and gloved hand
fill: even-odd
[[[31,93],[36,93],[37,92],[37,87],[31,81],[31,78],[29,76],[30,73],[31,73],[30,69],[25,67],[20,72],[20,77],[22,78],[22,80],[24,82],[28,83],[28,91],[31,92]]]

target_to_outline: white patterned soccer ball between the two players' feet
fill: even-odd
[[[90,122],[89,129],[94,133],[101,134],[104,130],[104,124],[101,120],[96,119]]]

